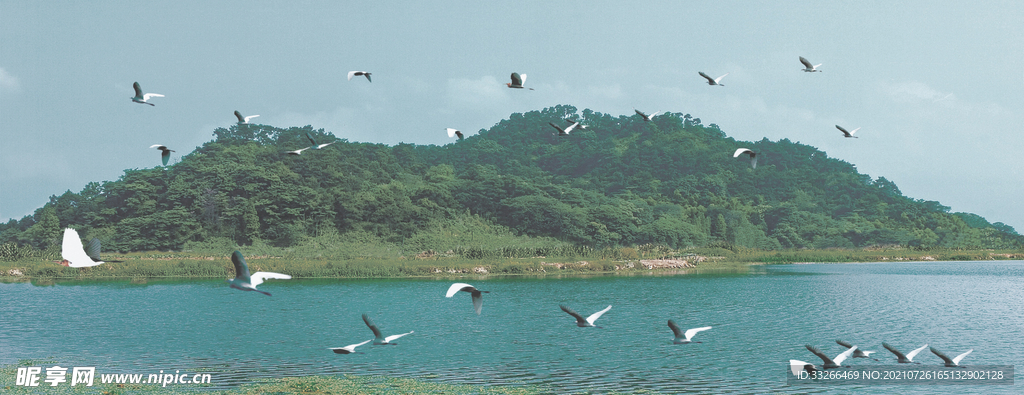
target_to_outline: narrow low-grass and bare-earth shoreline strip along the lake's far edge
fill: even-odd
[[[894,254],[899,253],[899,254]],[[938,258],[937,258],[938,257]],[[122,257],[118,257],[122,258]],[[814,259],[819,258],[819,259]],[[820,259],[824,258],[824,259]],[[733,256],[695,255],[662,259],[583,260],[579,258],[290,259],[252,257],[252,271],[276,271],[296,279],[384,278],[555,278],[588,275],[679,275],[705,271],[745,271],[750,266],[813,263],[897,263],[1024,260],[1021,252],[995,251],[827,251],[748,252]],[[225,258],[162,256],[135,258],[90,268],[69,268],[42,260],[0,262],[0,282],[63,280],[217,279],[233,276]]]

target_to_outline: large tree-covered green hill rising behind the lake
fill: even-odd
[[[569,125],[558,136],[549,123]],[[299,156],[287,150],[337,141]],[[425,133],[443,133],[430,130]],[[72,226],[108,251],[177,250],[229,237],[302,243],[325,229],[402,243],[467,217],[588,246],[728,243],[759,249],[1018,248],[1001,223],[904,196],[786,139],[736,141],[689,115],[651,122],[559,105],[513,114],[437,145],[354,143],[310,127],[237,125],[168,168],[52,196],[0,225],[0,243],[43,248]],[[758,153],[751,168],[733,151]],[[154,162],[159,163],[159,152]]]

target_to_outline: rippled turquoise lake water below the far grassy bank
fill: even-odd
[[[483,296],[444,298],[455,281]],[[787,386],[790,359],[819,362],[844,339],[878,351],[925,343],[964,365],[1024,366],[1024,261],[756,266],[745,273],[562,278],[282,280],[232,290],[223,280],[0,283],[0,364],[47,359],[100,374],[208,372],[216,388],[257,378],[387,375],[552,392],[1024,393],[1009,386]],[[578,327],[559,304],[583,315]],[[415,331],[395,346],[373,338]],[[711,325],[674,345],[666,321]],[[927,350],[916,361],[941,364]],[[50,363],[41,364],[43,367]],[[5,378],[5,380],[7,380]],[[193,388],[179,385],[176,388]]]

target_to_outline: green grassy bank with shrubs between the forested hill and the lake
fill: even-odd
[[[984,261],[1024,259],[1024,251],[949,249],[862,249],[761,251],[729,245],[671,250],[643,245],[592,249],[561,243],[455,246],[447,250],[402,248],[373,242],[318,240],[294,249],[266,245],[198,246],[182,252],[103,255],[108,262],[90,268],[65,267],[52,257],[0,261],[0,277],[227,278],[234,275],[228,258],[239,249],[251,271],[273,271],[296,278],[366,278],[452,275],[550,275],[641,273],[664,270],[741,270],[750,264],[801,262]],[[46,259],[50,258],[50,259]]]

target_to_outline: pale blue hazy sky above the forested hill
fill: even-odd
[[[570,104],[813,145],[1024,232],[1022,20],[1019,1],[4,0],[0,220],[159,166],[152,144],[177,161],[234,111],[445,144],[445,128]],[[536,90],[508,89],[512,72]],[[725,86],[697,72],[728,73]],[[133,103],[136,81],[166,97]]]

